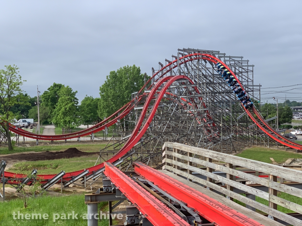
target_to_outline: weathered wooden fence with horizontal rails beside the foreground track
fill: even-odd
[[[218,164],[219,162],[223,165]],[[251,207],[250,209],[261,210],[275,220],[278,218],[295,226],[302,225],[301,220],[277,210],[279,205],[302,214],[302,206],[277,196],[277,192],[281,191],[302,198],[301,189],[291,187],[288,183],[277,182],[277,177],[280,177],[281,181],[302,183],[302,171],[172,142],[166,142],[163,146],[163,163],[163,169],[229,196],[231,200],[237,199]],[[206,168],[202,169],[202,166]],[[255,173],[243,172],[239,167],[251,169]],[[226,177],[215,174],[215,170],[226,173]],[[259,177],[259,172],[268,174],[268,177]],[[202,179],[198,174],[206,178]],[[268,188],[268,192],[241,183],[244,180],[263,185]],[[215,181],[225,184],[226,187],[218,185]],[[246,196],[234,192],[234,189],[243,191],[241,193],[246,193]],[[268,206],[257,202],[255,196],[267,200]]]

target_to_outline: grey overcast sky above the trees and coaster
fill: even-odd
[[[262,87],[302,83],[302,1],[0,3],[0,68],[20,67],[30,96],[55,82],[80,101],[99,97],[110,71],[135,64],[150,75],[188,47],[249,59]]]

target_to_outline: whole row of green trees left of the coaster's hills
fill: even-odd
[[[16,65],[5,66],[0,70],[0,114],[1,130],[8,141],[8,149],[12,150],[8,123],[14,119],[38,119],[37,96],[30,97],[21,86],[22,80]],[[111,71],[106,81],[100,86],[100,97],[85,96],[79,104],[77,91],[60,83],[53,83],[39,98],[41,124],[54,124],[66,130],[81,124],[97,124],[104,118],[131,100],[131,94],[139,91],[150,77],[141,73],[140,67],[124,66]]]

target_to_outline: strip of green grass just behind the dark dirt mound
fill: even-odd
[[[43,151],[64,151],[68,148],[77,148],[80,151],[85,152],[97,152],[104,148],[106,144],[76,144],[76,145],[58,145],[58,146],[33,146],[33,147],[22,147],[15,146],[12,151],[8,151],[7,147],[0,148],[0,155],[12,154],[18,152],[43,152]]]

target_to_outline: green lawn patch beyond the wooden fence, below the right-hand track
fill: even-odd
[[[246,149],[236,156],[266,163],[272,163],[270,158],[273,158],[277,163],[283,163],[289,158],[302,158],[302,155],[292,152],[258,147]]]

